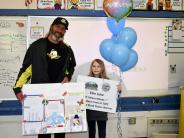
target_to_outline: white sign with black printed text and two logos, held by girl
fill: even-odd
[[[85,82],[86,108],[103,112],[116,112],[118,81],[79,75],[78,82]]]

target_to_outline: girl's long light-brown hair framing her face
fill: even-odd
[[[92,72],[92,66],[94,64],[94,62],[97,62],[100,67],[101,67],[101,73],[99,74],[99,78],[102,78],[102,79],[109,79],[107,77],[107,74],[106,74],[106,69],[105,69],[105,64],[104,62],[101,60],[101,59],[94,59],[92,62],[91,62],[91,65],[90,65],[90,72],[88,74],[88,76],[90,77],[95,77],[93,72]]]

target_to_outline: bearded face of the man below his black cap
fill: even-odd
[[[65,32],[66,32],[65,26],[62,24],[53,25],[51,26],[51,29],[50,29],[50,34],[52,35],[52,39],[58,42],[63,39]]]

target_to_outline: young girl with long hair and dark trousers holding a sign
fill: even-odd
[[[106,75],[104,62],[100,59],[94,59],[90,65],[89,76],[109,79]],[[121,85],[118,86],[118,91],[121,91]],[[106,138],[106,124],[107,124],[107,113],[94,110],[86,110],[89,138],[95,138],[96,123],[98,126],[99,138]]]

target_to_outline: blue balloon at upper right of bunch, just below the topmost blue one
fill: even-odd
[[[132,48],[137,41],[137,34],[133,28],[125,27],[117,35],[117,41],[118,43],[125,44],[128,48]]]

